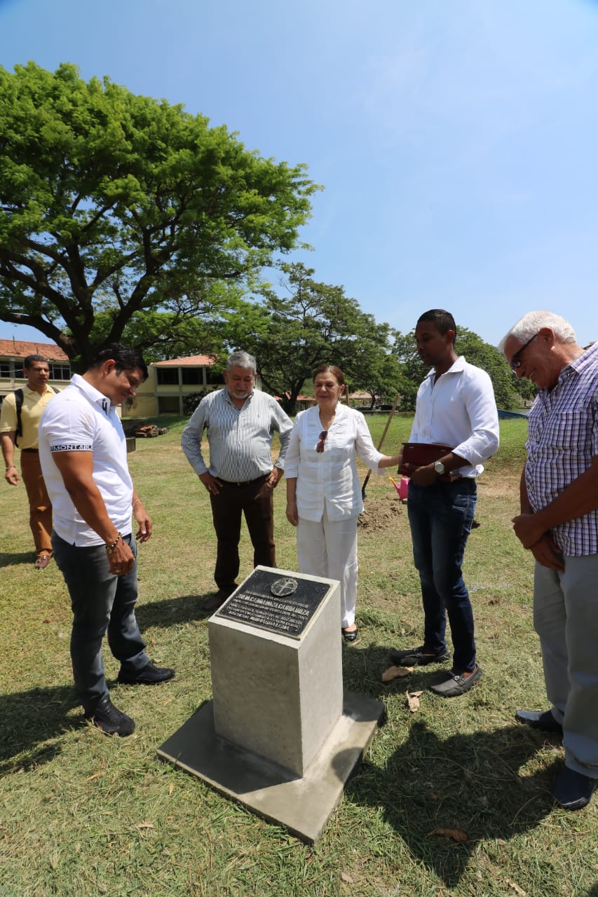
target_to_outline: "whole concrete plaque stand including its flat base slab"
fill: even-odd
[[[225,616],[224,608],[214,614],[208,623],[214,701],[180,727],[158,756],[312,842],[384,707],[365,695],[343,694],[338,582],[258,570],[278,582],[286,577],[328,588],[296,638]],[[251,591],[251,577],[229,601],[243,594],[261,600]]]

